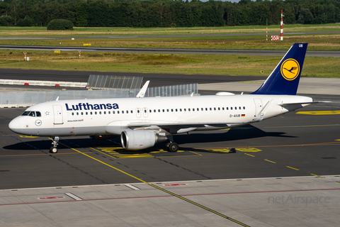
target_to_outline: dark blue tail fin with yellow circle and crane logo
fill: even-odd
[[[256,92],[251,94],[293,94],[297,92],[308,43],[295,43],[275,70]]]

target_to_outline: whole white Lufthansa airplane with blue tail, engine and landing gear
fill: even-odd
[[[144,97],[143,87],[135,98],[57,99],[35,104],[8,127],[22,135],[50,137],[50,153],[58,152],[60,136],[75,135],[94,139],[120,135],[125,150],[142,150],[167,142],[166,150],[176,152],[179,145],[174,142],[174,134],[242,126],[319,103],[296,95],[306,50],[307,43],[292,45],[261,87],[251,94]]]

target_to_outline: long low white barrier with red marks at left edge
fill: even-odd
[[[28,79],[0,79],[0,84],[8,85],[33,85],[49,87],[86,87],[87,82],[62,82],[47,80],[28,80]]]

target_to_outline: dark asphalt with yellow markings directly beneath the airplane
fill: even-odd
[[[340,108],[339,96],[312,97],[333,102],[301,111]],[[339,114],[293,112],[224,131],[174,135],[180,145],[178,153],[162,151],[164,144],[131,152],[120,148],[119,138],[70,137],[61,138],[59,153],[52,155],[48,138],[16,135],[8,129],[9,121],[24,110],[0,110],[0,189],[138,182],[132,176],[167,182],[336,175],[340,171]],[[236,153],[225,153],[231,148]]]

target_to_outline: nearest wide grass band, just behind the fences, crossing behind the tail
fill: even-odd
[[[177,74],[263,75],[268,76],[281,57],[254,55],[181,55],[111,52],[28,51],[23,61],[20,50],[0,50],[0,67],[43,70],[91,70]],[[263,70],[263,73],[261,73]],[[340,77],[337,57],[306,57],[302,76]]]

